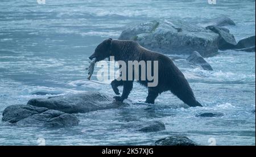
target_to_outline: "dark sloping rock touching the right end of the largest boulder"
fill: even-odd
[[[227,32],[225,29],[217,27],[217,26],[208,26],[207,29],[217,33],[218,36],[218,49],[226,50],[233,49],[237,45],[236,39],[232,34]]]

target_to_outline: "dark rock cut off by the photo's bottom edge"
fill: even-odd
[[[155,142],[156,146],[199,146],[185,136],[171,136],[159,139]]]

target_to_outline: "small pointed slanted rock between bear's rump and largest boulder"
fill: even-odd
[[[187,58],[187,61],[201,66],[204,70],[213,70],[212,66],[210,66],[209,63],[205,61],[204,58],[196,51],[194,51],[191,56]]]

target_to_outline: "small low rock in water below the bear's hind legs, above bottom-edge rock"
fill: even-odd
[[[149,122],[146,122],[144,126],[141,126],[141,128],[138,129],[138,131],[155,132],[155,131],[161,131],[165,129],[166,129],[166,126],[162,121],[149,121]]]

